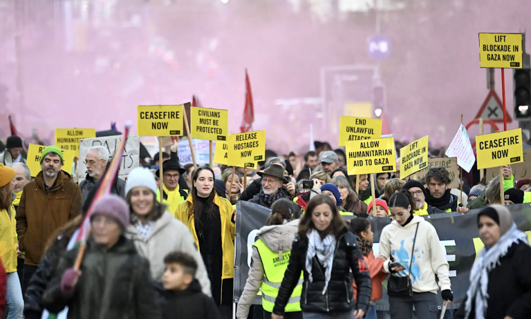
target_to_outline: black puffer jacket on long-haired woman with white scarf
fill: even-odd
[[[304,271],[304,285],[301,295],[301,309],[312,313],[343,313],[362,309],[367,312],[371,300],[371,276],[363,259],[362,251],[357,246],[356,235],[344,229],[337,240],[332,265],[332,274],[328,289],[323,295],[324,268],[313,258],[312,277],[309,281],[306,271],[306,252],[308,238],[297,235],[293,241],[290,264],[284,273],[279,295],[274,302],[273,313],[282,316],[293,289],[297,286],[301,271]],[[350,272],[352,269],[352,273]],[[352,279],[357,283],[357,305],[354,302]]]

